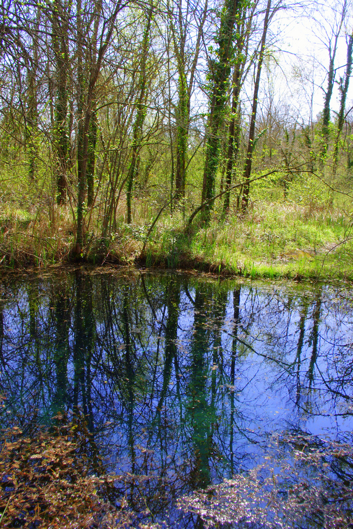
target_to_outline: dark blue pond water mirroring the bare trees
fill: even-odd
[[[352,445],[349,288],[76,269],[8,276],[0,291],[1,427],[84,414],[95,457],[155,521],[195,524],[201,507],[179,516],[177,498],[249,476],[279,445],[292,459]],[[349,490],[343,452],[334,482]]]

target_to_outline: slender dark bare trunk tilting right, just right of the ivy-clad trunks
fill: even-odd
[[[242,203],[241,203],[242,211],[246,211],[248,207],[248,202],[249,202],[252,153],[254,151],[255,123],[256,123],[257,102],[258,102],[257,98],[258,98],[259,86],[260,86],[261,69],[263,67],[263,61],[264,61],[266,35],[267,35],[268,24],[269,24],[270,9],[271,9],[271,0],[268,0],[267,7],[266,7],[266,13],[265,13],[265,20],[264,20],[263,37],[261,38],[259,61],[257,63],[257,72],[256,72],[255,85],[254,85],[254,97],[252,98],[252,110],[251,110],[250,127],[249,127],[249,141],[248,141],[247,157],[245,161],[245,168],[243,171],[243,179],[245,180],[245,183],[243,187],[243,196],[242,196]]]

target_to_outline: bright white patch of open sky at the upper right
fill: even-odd
[[[280,34],[278,48],[281,51],[275,53],[279,62],[275,67],[275,92],[279,101],[289,104],[293,111],[296,109],[305,120],[310,116],[311,99],[314,119],[323,108],[324,92],[321,87],[327,89],[328,45],[332,38],[332,30],[337,30],[337,25],[340,23],[341,8],[338,3],[338,14],[335,13],[333,3],[330,2],[330,5],[319,6],[317,10],[303,8],[299,16],[296,9],[296,16],[292,18],[284,11],[277,17],[277,30]],[[341,36],[338,39],[338,50],[334,61],[334,67],[337,68],[336,81],[345,73],[346,35],[352,31],[351,13],[352,9],[348,7]],[[351,78],[346,111],[352,106],[352,100],[353,79]],[[338,84],[335,83],[330,105],[332,118],[334,111],[339,110],[339,105],[340,93]]]

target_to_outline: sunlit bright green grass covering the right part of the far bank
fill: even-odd
[[[194,226],[189,235],[180,219],[171,224],[160,223],[147,247],[168,267],[173,251],[173,268],[194,263],[251,278],[353,279],[353,244],[339,211],[307,216],[295,205],[258,204],[242,218]]]

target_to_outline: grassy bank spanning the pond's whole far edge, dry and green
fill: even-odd
[[[0,262],[3,267],[47,266],[71,259],[75,224],[68,208],[31,214],[2,213]],[[86,235],[82,260],[164,268],[195,268],[252,278],[353,280],[350,216],[339,207],[312,209],[258,200],[246,215],[220,221],[215,212],[208,226],[196,221],[186,229],[180,211],[152,220],[121,220],[105,239],[99,229]],[[148,236],[147,236],[148,235]]]

